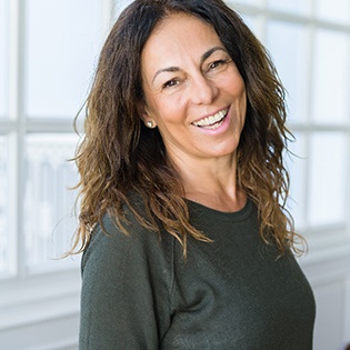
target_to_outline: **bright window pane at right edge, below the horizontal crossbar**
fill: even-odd
[[[347,212],[347,134],[318,132],[310,139],[309,223],[344,222]]]

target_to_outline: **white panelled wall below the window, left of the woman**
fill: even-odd
[[[77,349],[80,272],[1,283],[1,350]]]

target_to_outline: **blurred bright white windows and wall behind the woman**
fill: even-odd
[[[121,0],[0,0],[0,348],[77,349],[73,162],[81,108]],[[350,1],[226,1],[284,83],[289,208],[309,242],[316,350],[350,342]],[[83,114],[83,113],[82,113]],[[83,116],[79,124],[83,122]]]

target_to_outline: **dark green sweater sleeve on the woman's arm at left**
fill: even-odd
[[[104,218],[82,258],[79,349],[158,349],[170,326],[169,253],[158,236]]]

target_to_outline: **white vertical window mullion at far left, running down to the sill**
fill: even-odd
[[[23,3],[9,1],[9,119],[14,127],[9,132],[9,267],[10,273],[23,274],[23,136],[26,123],[23,116]]]

